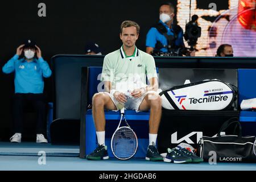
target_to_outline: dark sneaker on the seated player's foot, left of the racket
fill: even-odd
[[[98,144],[98,147],[89,155],[86,155],[86,159],[88,160],[105,160],[109,159],[108,147],[103,144]]]

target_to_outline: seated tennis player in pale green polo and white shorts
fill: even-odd
[[[93,96],[93,119],[96,126],[98,147],[86,159],[109,159],[105,146],[105,115],[106,110],[125,109],[136,111],[150,110],[149,146],[146,160],[163,160],[155,147],[162,100],[158,90],[158,78],[154,57],[139,50],[135,42],[139,36],[139,25],[124,21],[121,24],[120,39],[123,45],[117,51],[104,58],[101,81],[104,81],[105,92]],[[146,76],[150,85],[146,84]]]

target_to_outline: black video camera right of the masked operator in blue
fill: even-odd
[[[191,47],[191,51],[196,46],[197,39],[201,36],[201,27],[197,24],[197,15],[191,17],[191,21],[186,24],[184,38]]]

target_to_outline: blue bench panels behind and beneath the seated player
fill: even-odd
[[[98,92],[99,88],[103,90],[103,83],[100,82],[100,74],[102,71],[102,67],[88,67],[88,96],[87,103],[92,103],[92,97],[94,93]],[[256,98],[256,69],[238,69],[238,105],[241,104],[241,101],[249,98]],[[239,108],[239,107],[238,107]],[[96,130],[94,127],[94,122],[92,118],[92,110],[86,110],[85,120],[86,125],[84,127],[85,130],[85,154],[89,154],[96,147]],[[148,119],[149,112],[140,112],[136,113],[134,110],[126,110],[126,118],[129,121],[131,127],[135,130],[139,138],[139,146],[137,154],[134,156],[135,158],[144,158],[146,155],[146,149],[148,146]],[[108,151],[110,157],[113,157],[110,139],[112,137],[113,132],[115,131],[120,114],[119,112],[114,111],[105,111],[106,118],[106,145],[108,146]],[[139,121],[139,122],[138,122]],[[144,121],[144,123],[142,123]],[[255,135],[256,130],[256,112],[254,111],[241,111],[240,112],[240,121],[243,125],[243,129],[246,131],[245,133],[248,135]],[[137,125],[135,124],[137,123]],[[142,127],[139,127],[142,126]],[[136,127],[138,127],[138,129]],[[82,128],[83,129],[83,128]],[[136,131],[137,130],[137,131]],[[138,132],[139,131],[139,132]],[[142,134],[143,133],[143,134]]]

